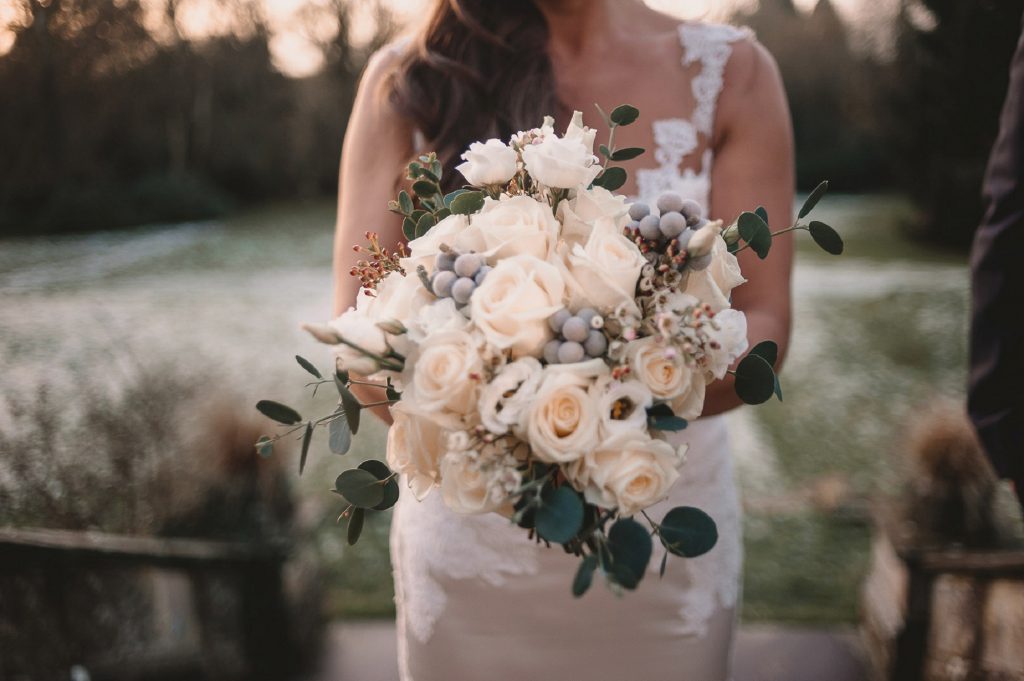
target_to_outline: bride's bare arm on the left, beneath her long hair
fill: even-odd
[[[345,132],[334,239],[335,314],[354,305],[359,290],[359,281],[349,274],[360,259],[352,246],[364,244],[367,231],[380,235],[381,244],[389,250],[402,239],[401,223],[386,206],[395,197],[401,168],[413,156],[412,129],[390,105],[382,87],[397,57],[395,48],[384,48],[371,57]],[[383,391],[377,388],[352,388],[364,403],[383,399]],[[391,422],[386,408],[374,412]]]

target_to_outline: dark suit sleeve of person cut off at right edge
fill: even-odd
[[[971,254],[968,411],[1001,477],[1024,481],[1024,36],[1010,72]]]

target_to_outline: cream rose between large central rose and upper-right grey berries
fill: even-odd
[[[637,280],[647,261],[614,221],[602,217],[586,246],[574,245],[565,263],[571,276],[571,305],[607,312],[635,299]]]

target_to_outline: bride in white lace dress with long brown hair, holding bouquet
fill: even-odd
[[[641,112],[617,132],[622,146],[647,150],[624,164],[622,191],[653,205],[673,190],[726,221],[760,202],[773,223],[792,221],[785,96],[749,32],[680,24],[639,0],[434,0],[419,33],[374,55],[358,90],[342,154],[336,312],[358,286],[348,275],[351,245],[367,229],[386,244],[401,239],[382,207],[418,153],[437,151],[458,184],[453,166],[470,141],[507,139],[546,114],[563,126],[573,109],[589,112],[605,135],[595,102]],[[783,351],[788,239],[767,260],[740,255],[749,283],[732,301],[751,338],[774,339]],[[573,599],[575,561],[527,541],[506,518],[460,516],[437,495],[422,503],[402,495],[391,528],[402,680],[729,679],[741,545],[722,413],[737,405],[729,383],[709,387],[703,418],[674,435],[692,444],[690,460],[654,508],[702,508],[718,523],[718,546],[671,561],[664,578],[623,598],[593,589]]]

